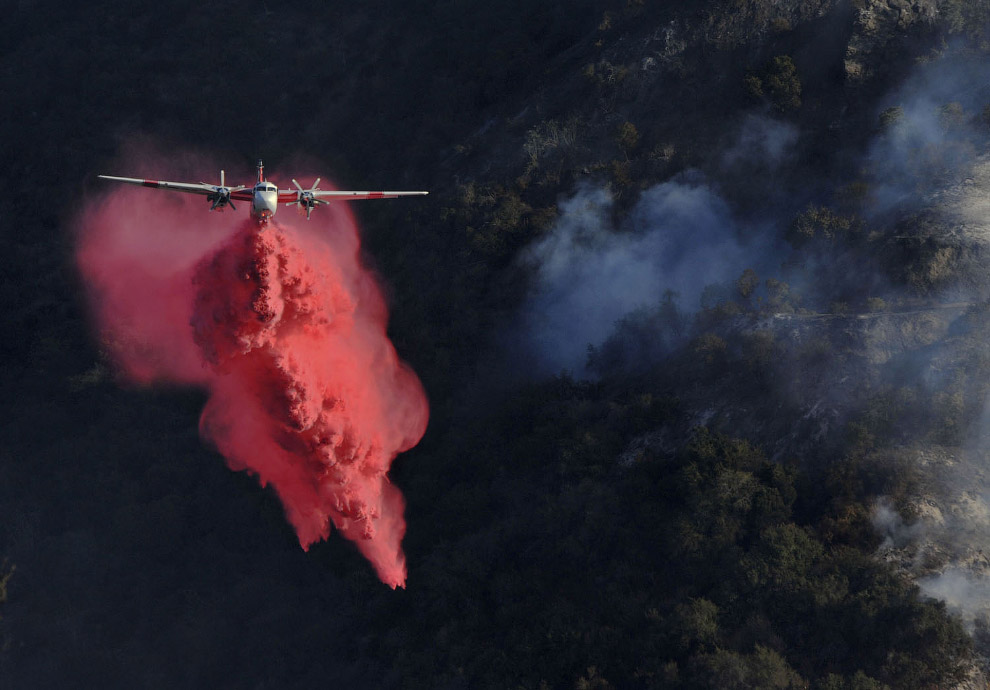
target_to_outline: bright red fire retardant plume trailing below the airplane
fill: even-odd
[[[84,209],[77,259],[102,342],[133,382],[209,391],[200,432],[275,488],[303,549],[333,523],[404,586],[404,501],[387,473],[428,408],[385,334],[353,217],[283,208],[259,229],[237,205],[121,187]]]

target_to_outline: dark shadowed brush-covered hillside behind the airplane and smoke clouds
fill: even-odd
[[[906,510],[914,476],[891,449],[958,443],[990,360],[961,346],[968,376],[905,385],[914,355],[867,366],[842,329],[787,340],[765,326],[907,311],[948,280],[944,247],[897,245],[890,260],[890,238],[862,219],[854,162],[900,117],[883,111],[878,125],[879,94],[907,69],[892,56],[978,42],[985,9],[952,0],[941,23],[894,31],[864,58],[864,82],[843,71],[862,5],[12,8],[0,46],[0,556],[12,564],[0,569],[0,685],[960,680],[968,636],[872,557],[870,511],[881,495]],[[670,27],[653,64],[630,52]],[[590,353],[597,383],[501,385],[490,353],[526,294],[516,258],[549,231],[559,196],[607,185],[621,216],[687,168],[715,176],[727,132],[754,108],[811,132],[786,169],[722,171],[741,214],[793,219],[784,272],[733,277],[697,314],[658,295]],[[391,334],[433,412],[392,475],[408,500],[407,590],[385,588],[336,537],[301,552],[274,495],[198,440],[198,394],[114,381],[86,326],[70,227],[98,193],[93,176],[118,172],[135,140],[206,152],[228,174],[258,156],[285,172],[304,155],[344,186],[433,191],[357,209]],[[867,273],[878,277],[848,279]],[[904,292],[881,294],[887,284]],[[965,344],[988,325],[983,307],[952,332],[885,318],[928,356],[932,334]],[[827,433],[804,415],[816,396],[844,399]]]

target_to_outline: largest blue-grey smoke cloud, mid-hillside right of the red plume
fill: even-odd
[[[696,309],[705,286],[736,279],[759,258],[698,174],[645,191],[620,228],[611,207],[607,191],[579,190],[526,253],[536,277],[522,330],[538,373],[585,375],[588,346],[618,321],[659,305],[668,290],[679,307]]]

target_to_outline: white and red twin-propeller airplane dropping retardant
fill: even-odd
[[[295,189],[279,189],[274,184],[265,179],[265,165],[258,161],[258,181],[254,186],[238,185],[228,187],[224,178],[223,170],[220,171],[220,184],[208,184],[206,182],[164,182],[161,180],[142,180],[134,177],[114,177],[112,175],[100,175],[100,179],[112,180],[113,182],[126,182],[137,184],[143,187],[155,189],[172,189],[177,192],[188,192],[189,194],[203,194],[210,202],[211,211],[222,211],[224,207],[230,206],[234,211],[234,201],[250,201],[251,216],[259,225],[265,225],[275,215],[279,204],[286,206],[298,205],[299,210],[306,211],[306,220],[309,220],[313,209],[320,204],[329,204],[330,201],[353,201],[357,199],[395,199],[400,196],[422,196],[429,192],[330,192],[321,190],[317,185],[320,178],[309,189],[303,189],[295,180],[292,184]]]

